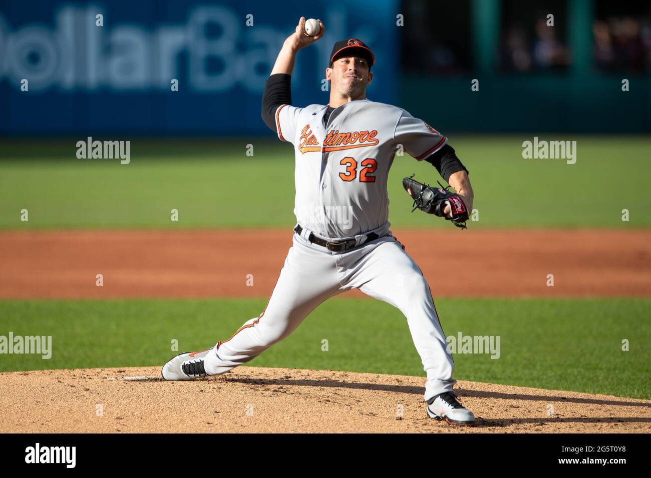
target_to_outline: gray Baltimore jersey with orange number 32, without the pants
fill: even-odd
[[[276,110],[278,137],[291,142],[296,155],[296,220],[330,239],[384,232],[387,177],[396,152],[422,161],[447,138],[404,109],[368,99],[341,105],[324,127],[326,110],[327,105]]]

